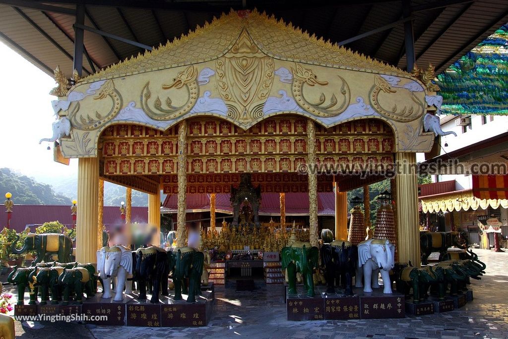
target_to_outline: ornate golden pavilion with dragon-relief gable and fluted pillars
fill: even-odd
[[[423,131],[435,110],[426,104],[436,94],[432,78],[432,70],[406,73],[256,11],[232,11],[75,78],[68,91],[60,83],[57,123],[71,125],[60,151],[79,158],[77,260],[93,262],[99,247],[101,180],[149,193],[153,224],[160,191],[178,194],[180,246],[186,193],[228,192],[241,173],[264,191],[308,192],[316,244],[316,192],[334,189],[336,234],[345,239],[354,169],[414,165],[416,152],[432,148],[433,133]],[[298,174],[316,164],[347,164],[341,174],[350,176]],[[409,172],[395,180],[398,253],[418,263],[417,177]]]

